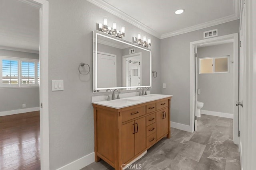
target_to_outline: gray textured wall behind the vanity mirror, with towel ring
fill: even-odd
[[[125,25],[125,40],[141,32],[151,36],[152,69],[160,72],[160,40],[96,7],[86,0],[49,1],[49,89],[51,80],[64,80],[64,91],[49,92],[50,169],[55,170],[94,152],[94,119],[91,104],[92,72],[80,75],[78,65],[92,67],[92,31],[108,17]],[[61,63],[61,64],[60,64]],[[160,93],[160,76],[152,80]]]

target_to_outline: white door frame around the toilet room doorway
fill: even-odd
[[[238,108],[235,106],[238,100],[238,33],[223,35],[210,39],[202,39],[199,41],[190,42],[190,131],[194,132],[194,117],[195,117],[195,61],[194,61],[194,47],[204,43],[212,43],[216,41],[223,41],[227,39],[233,40],[234,51],[234,126],[233,126],[233,141],[238,144]]]

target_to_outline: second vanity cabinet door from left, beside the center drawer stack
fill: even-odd
[[[135,155],[146,148],[146,125],[145,117],[137,119],[135,122]]]

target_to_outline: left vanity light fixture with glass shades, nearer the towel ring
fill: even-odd
[[[116,29],[116,22],[113,22],[113,27],[108,27],[108,19],[104,18],[103,24],[99,23],[99,31],[108,33],[118,38],[124,37],[124,26],[121,25],[121,31]]]

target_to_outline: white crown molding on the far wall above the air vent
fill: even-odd
[[[224,18],[220,18],[218,20],[213,20],[213,21],[201,23],[201,24],[198,24],[198,25],[194,25],[194,26],[191,26],[191,27],[187,27],[187,28],[184,28],[184,29],[179,29],[177,31],[172,31],[172,32],[169,32],[169,33],[162,34],[160,39],[173,37],[175,35],[180,35],[180,34],[188,33],[188,32],[191,32],[191,31],[196,31],[196,30],[199,30],[199,29],[212,27],[214,25],[219,25],[221,23],[226,23],[226,22],[234,21],[234,20],[238,20],[238,19],[239,19],[239,17],[237,17],[235,15],[227,16],[227,17],[224,17]]]

